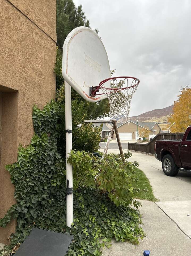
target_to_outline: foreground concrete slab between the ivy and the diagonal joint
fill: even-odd
[[[143,214],[143,229],[147,237],[137,246],[113,239],[112,247],[103,250],[104,256],[142,256],[144,250],[150,250],[150,256],[191,255],[190,239],[155,203],[142,202],[139,210]]]

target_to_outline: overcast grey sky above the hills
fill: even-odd
[[[116,76],[139,78],[130,116],[173,104],[191,84],[190,0],[74,0],[99,29]]]

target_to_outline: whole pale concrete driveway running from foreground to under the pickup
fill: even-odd
[[[119,153],[119,150],[109,149],[108,153]],[[162,171],[161,162],[151,155],[133,153],[130,161],[135,160],[159,199],[156,203],[140,200],[139,210],[143,214],[147,238],[136,247],[113,240],[111,250],[104,249],[103,255],[141,256],[143,250],[150,250],[150,256],[190,256],[191,174],[180,172],[176,177],[168,177]]]

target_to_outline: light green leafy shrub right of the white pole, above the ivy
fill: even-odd
[[[132,154],[124,154],[128,159]],[[115,205],[133,205],[138,209],[140,205],[133,197],[140,189],[132,186],[138,181],[135,172],[137,162],[123,161],[120,154],[108,154],[104,158],[96,158],[85,151],[72,150],[67,160],[73,165],[75,188],[94,186],[108,197]]]

